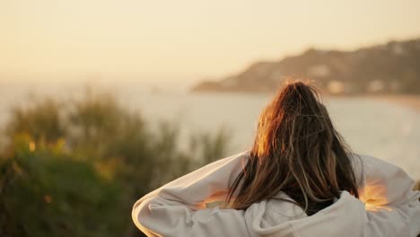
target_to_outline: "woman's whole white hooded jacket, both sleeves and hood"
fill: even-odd
[[[148,236],[409,236],[420,233],[420,191],[397,166],[368,155],[354,162],[360,199],[343,191],[334,204],[308,216],[290,202],[270,198],[245,211],[206,208],[249,159],[235,154],[173,180],[139,199],[136,226]],[[356,161],[356,160],[354,160]],[[363,168],[362,168],[363,167]],[[277,198],[287,198],[280,192]]]

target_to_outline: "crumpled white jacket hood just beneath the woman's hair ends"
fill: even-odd
[[[343,191],[334,204],[308,216],[300,206],[284,201],[279,193],[275,198],[250,206],[245,219],[251,236],[361,236],[364,226],[363,203]],[[360,233],[356,233],[360,232]],[[346,235],[346,234],[345,234]]]

